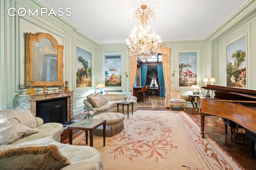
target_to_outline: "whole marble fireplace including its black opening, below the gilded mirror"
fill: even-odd
[[[56,105],[56,101],[58,101]],[[64,101],[64,103],[63,103]],[[46,104],[44,104],[46,103]],[[51,103],[53,104],[52,106]],[[38,106],[39,105],[39,106]],[[47,107],[45,105],[48,105]],[[60,105],[59,108],[58,105]],[[64,107],[62,105],[65,105]],[[57,106],[57,107],[55,107]],[[40,107],[40,108],[39,108]],[[53,107],[53,108],[51,108]],[[44,110],[41,115],[38,116],[38,109],[48,108],[49,110]],[[62,92],[54,92],[54,93],[38,93],[34,95],[17,95],[17,109],[30,109],[32,115],[34,117],[38,116],[42,118],[42,114],[47,113],[45,117],[46,119],[54,119],[56,121],[65,121],[70,122],[73,118],[73,91],[62,91]],[[62,109],[61,111],[58,111]],[[58,113],[56,113],[58,112]],[[65,113],[65,115],[61,115],[61,113]],[[49,115],[48,115],[49,114]],[[55,115],[54,115],[55,114]],[[57,118],[56,118],[57,117]],[[65,120],[64,120],[65,119]],[[43,119],[44,120],[44,119]],[[46,120],[48,121],[48,120]],[[45,122],[45,120],[44,120]],[[46,122],[45,122],[46,123]]]

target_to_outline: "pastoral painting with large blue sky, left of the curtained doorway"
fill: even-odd
[[[105,55],[105,86],[121,87],[122,85],[121,55]]]

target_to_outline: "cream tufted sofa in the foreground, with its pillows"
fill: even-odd
[[[44,124],[29,109],[0,111],[0,169],[103,169],[98,150],[62,144],[62,132],[62,124]]]

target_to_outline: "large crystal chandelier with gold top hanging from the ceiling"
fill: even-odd
[[[142,10],[140,10],[140,8]],[[137,57],[137,59],[151,59],[152,55],[160,53],[160,40],[153,30],[153,34],[149,31],[148,22],[150,18],[154,18],[155,14],[147,6],[142,5],[134,12],[134,18],[140,22],[140,30],[137,28],[132,31],[130,40],[127,41],[127,50],[129,57]]]

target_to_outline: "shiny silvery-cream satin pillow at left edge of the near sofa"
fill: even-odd
[[[7,118],[0,120],[0,144],[11,144],[22,137],[39,131],[22,125],[16,118]]]

